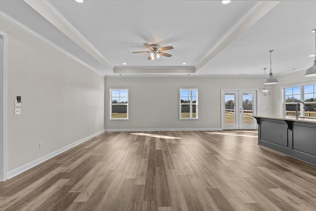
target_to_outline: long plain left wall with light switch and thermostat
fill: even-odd
[[[104,77],[4,19],[0,26],[8,37],[7,170],[102,131]]]

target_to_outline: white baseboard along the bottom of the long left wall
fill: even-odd
[[[45,155],[45,156],[43,156],[43,157],[41,157],[41,158],[39,158],[39,159],[37,159],[35,161],[32,161],[32,162],[30,162],[28,164],[25,164],[25,165],[23,165],[23,166],[21,166],[19,168],[13,169],[13,170],[7,172],[7,179],[12,178],[13,176],[16,176],[16,175],[18,175],[18,174],[20,174],[20,173],[22,173],[22,172],[24,172],[24,171],[26,171],[28,169],[31,169],[31,168],[43,163],[44,161],[47,161],[48,159],[51,159],[51,158],[55,157],[56,155],[59,155],[60,153],[63,153],[65,151],[73,148],[74,146],[77,146],[78,144],[81,144],[81,143],[89,140],[90,138],[93,138],[94,136],[97,136],[97,135],[103,133],[104,131],[105,131],[104,129],[100,130],[99,132],[96,132],[96,133],[91,134],[91,135],[89,135],[89,136],[87,136],[85,138],[82,138],[79,141],[76,141],[76,142],[74,142],[72,144],[69,144],[68,146],[65,146],[65,147],[63,147],[63,148],[61,148],[59,150],[56,150],[55,152],[49,153],[48,155]]]

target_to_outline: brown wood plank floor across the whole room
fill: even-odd
[[[257,131],[105,132],[0,183],[1,211],[315,211],[316,167]]]

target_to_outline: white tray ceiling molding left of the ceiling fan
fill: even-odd
[[[109,61],[49,1],[24,0],[24,2],[99,61],[106,69],[113,72],[113,67]]]

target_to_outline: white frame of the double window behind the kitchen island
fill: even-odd
[[[301,87],[301,101],[304,102],[304,86],[306,85],[312,85],[312,84],[316,84],[315,82],[308,82],[308,83],[302,83],[302,84],[291,84],[291,85],[286,85],[286,86],[281,86],[281,96],[282,96],[282,114],[284,116],[286,116],[285,114],[285,106],[286,105],[290,105],[290,104],[296,104],[297,102],[285,102],[285,88],[291,88],[291,87],[297,87],[300,86]],[[316,102],[304,102],[305,104],[315,104]],[[305,116],[305,109],[303,106],[300,106],[300,117],[304,117]]]

